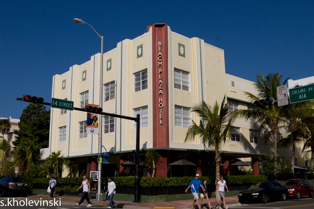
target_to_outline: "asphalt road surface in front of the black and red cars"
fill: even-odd
[[[291,209],[313,209],[314,208],[314,198],[302,197],[300,200],[287,199],[286,201],[271,201],[267,203],[251,203],[242,204],[242,206],[237,206],[233,208],[291,208]]]

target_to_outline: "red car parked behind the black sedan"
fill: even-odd
[[[301,196],[313,197],[313,185],[305,179],[286,180],[282,185],[288,188],[289,197],[295,197],[296,199],[300,199]]]

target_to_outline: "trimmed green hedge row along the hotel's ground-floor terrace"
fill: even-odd
[[[113,177],[114,182],[117,186],[129,186],[133,187],[135,185],[135,176],[121,176]],[[190,184],[193,176],[184,176],[184,177],[146,177],[143,176],[140,178],[141,187],[170,187],[170,186],[187,186]],[[208,185],[215,184],[215,176],[201,176],[200,180],[207,180]],[[34,184],[48,184],[50,178],[37,178],[34,179]],[[81,185],[83,178],[82,177],[73,177],[73,178],[61,178],[56,177],[57,184],[63,185]],[[90,179],[89,179],[90,181]],[[258,181],[267,181],[267,177],[264,175],[238,175],[238,176],[225,176],[225,181],[227,185],[243,185],[243,184],[252,184]],[[108,183],[108,178],[102,178],[102,184],[106,185]]]

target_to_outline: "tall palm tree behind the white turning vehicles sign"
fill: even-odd
[[[284,75],[279,74],[279,72],[276,73],[269,73],[266,77],[262,74],[258,74],[256,76],[256,83],[254,83],[254,86],[256,88],[256,91],[258,93],[257,96],[245,92],[247,97],[250,99],[251,102],[255,100],[264,99],[267,97],[273,97],[275,100],[277,99],[277,86],[284,85],[289,77],[281,83],[281,79]],[[273,140],[273,149],[274,149],[274,174],[277,173],[277,133],[280,129],[283,129],[283,124],[287,123],[287,117],[286,112],[289,112],[290,106],[281,106],[278,107],[277,105],[269,105],[269,106],[262,106],[257,107],[252,110],[236,110],[232,112],[233,116],[235,118],[237,117],[243,117],[248,119],[253,119],[256,121],[257,124],[259,124],[258,133],[261,133],[261,131],[265,129],[270,129],[269,133],[266,135],[266,139],[272,139]]]

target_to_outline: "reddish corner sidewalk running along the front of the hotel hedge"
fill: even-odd
[[[192,196],[191,196],[192,197]],[[52,198],[49,195],[30,195],[28,198],[42,198],[42,199],[47,199],[51,200]],[[73,202],[74,203],[78,202],[81,198],[78,196],[54,196],[54,198],[59,199],[61,198],[61,201],[67,201],[67,202]],[[114,198],[113,198],[114,199]],[[214,206],[215,208],[219,208],[218,203],[215,202],[215,198],[210,198],[210,204]],[[96,202],[96,199],[90,199],[92,205],[101,205],[101,206],[109,206],[109,201],[104,200],[102,202]],[[140,208],[140,209],[163,209],[163,208],[168,208],[168,209],[191,209],[192,208],[192,198],[191,200],[181,200],[181,201],[171,201],[171,202],[155,202],[155,203],[133,203],[130,201],[118,201],[114,200],[116,202],[116,208],[129,208],[129,209],[135,209],[135,208]],[[226,204],[227,207],[234,207],[234,206],[241,206],[241,204],[238,202],[238,197],[233,196],[233,197],[226,197]],[[203,209],[209,209],[207,205],[207,201],[203,200],[202,202]],[[87,206],[86,200],[82,203],[81,206]],[[197,204],[194,206],[195,209],[198,208]]]

